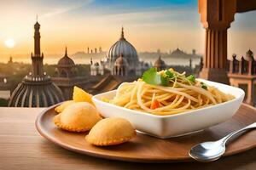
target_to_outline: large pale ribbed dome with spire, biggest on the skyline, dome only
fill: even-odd
[[[112,65],[113,62],[119,58],[120,54],[123,54],[124,58],[127,60],[129,65],[131,65],[131,67],[136,67],[138,62],[137,50],[131,45],[130,42],[125,39],[123,28],[119,41],[115,42],[113,46],[108,50],[108,59]]]

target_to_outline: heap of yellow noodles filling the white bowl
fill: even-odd
[[[122,83],[114,98],[108,102],[131,110],[165,116],[234,99],[234,96],[224,94],[218,88],[195,80],[194,76],[185,77],[184,73],[172,69],[167,71],[172,73],[168,72],[171,76],[166,79],[167,85],[147,83],[143,81],[143,75],[143,79]],[[156,76],[159,75],[166,77],[166,71],[157,72]]]

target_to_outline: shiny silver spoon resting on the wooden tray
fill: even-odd
[[[189,151],[189,156],[194,158],[197,161],[218,160],[218,158],[220,158],[224,154],[226,150],[225,144],[230,138],[234,137],[237,133],[241,133],[242,131],[245,131],[254,127],[256,127],[256,122],[248,125],[247,127],[243,127],[240,130],[237,130],[235,132],[232,132],[226,135],[223,139],[219,139],[217,141],[212,141],[212,142],[203,142],[201,144],[196,144]]]

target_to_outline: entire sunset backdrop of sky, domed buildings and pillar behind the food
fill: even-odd
[[[256,105],[256,11],[247,2],[1,1],[0,105],[54,105],[72,99],[74,85],[102,93],[150,67],[230,83]]]

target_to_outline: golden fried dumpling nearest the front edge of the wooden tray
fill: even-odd
[[[131,123],[123,118],[106,118],[90,129],[85,139],[98,146],[122,144],[136,136]]]

